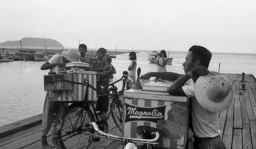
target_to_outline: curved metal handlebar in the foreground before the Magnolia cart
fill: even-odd
[[[132,142],[136,142],[136,143],[158,144],[158,143],[153,143],[154,141],[156,141],[159,138],[159,133],[158,132],[152,132],[151,133],[152,135],[156,135],[156,137],[153,138],[153,139],[128,138],[128,137],[119,137],[119,136],[115,136],[115,135],[105,133],[97,127],[97,124],[95,122],[90,122],[89,125],[92,126],[93,129],[95,131],[97,131],[100,135],[105,136],[105,138],[116,139],[116,140],[120,140],[120,141],[131,140]]]

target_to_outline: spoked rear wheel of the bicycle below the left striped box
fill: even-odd
[[[63,149],[84,148],[87,149],[92,143],[94,129],[89,126],[94,122],[91,110],[82,104],[71,104],[61,115],[59,139]]]

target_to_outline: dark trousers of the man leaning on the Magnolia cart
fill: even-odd
[[[216,136],[214,138],[194,138],[193,149],[226,149],[226,145],[220,138]]]

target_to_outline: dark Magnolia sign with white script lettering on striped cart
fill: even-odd
[[[164,120],[164,112],[166,106],[155,108],[136,107],[130,104],[125,104],[125,119],[124,123],[130,121],[150,121],[157,123],[160,119]]]

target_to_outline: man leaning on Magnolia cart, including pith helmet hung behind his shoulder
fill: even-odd
[[[212,53],[205,47],[192,46],[182,64],[185,75],[172,72],[149,72],[140,77],[176,80],[167,92],[175,96],[191,97],[194,149],[226,149],[220,138],[219,114],[220,111],[228,108],[233,91],[227,78],[217,72],[209,72],[211,58]]]

